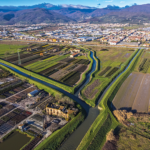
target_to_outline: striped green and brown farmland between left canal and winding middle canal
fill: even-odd
[[[74,54],[78,57],[74,58]],[[80,80],[90,64],[84,49],[49,44],[32,44],[21,48],[19,55],[14,53],[3,58],[69,86],[74,86]]]

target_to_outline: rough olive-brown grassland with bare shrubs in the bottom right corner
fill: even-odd
[[[123,111],[122,111],[123,112]],[[148,150],[150,147],[150,119],[149,114],[127,112],[128,117],[124,120],[120,120],[122,124],[114,130],[114,134],[119,137],[117,142],[118,150],[132,149],[132,150]],[[115,113],[116,114],[116,113]],[[118,111],[116,117],[119,119]],[[124,113],[125,114],[125,113]],[[131,124],[130,126],[127,126]]]

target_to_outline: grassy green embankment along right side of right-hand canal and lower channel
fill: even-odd
[[[138,51],[136,51],[136,53],[134,53],[132,55],[132,57],[130,59],[128,59],[128,61],[126,61],[124,63],[124,65],[122,65],[122,67],[120,69],[121,72],[125,69],[125,66],[127,66],[129,64],[130,60],[135,56],[135,54],[137,54],[137,52]],[[111,102],[112,102],[114,96],[116,95],[119,87],[122,85],[124,80],[128,77],[128,75],[134,70],[134,67],[135,67],[141,53],[142,53],[142,50],[134,57],[132,63],[128,67],[128,69],[126,69],[126,71],[124,71],[117,78],[117,80],[115,80],[115,82],[109,87],[109,89],[103,96],[100,104],[98,105],[98,108],[100,108],[101,113],[96,118],[94,123],[91,125],[90,129],[88,130],[88,132],[82,139],[77,150],[86,150],[89,147],[89,145],[90,145],[91,149],[102,149],[102,147],[106,141],[106,133],[108,133],[110,131],[110,129],[115,129],[119,125],[119,122],[116,120],[116,118],[114,117],[114,115],[112,114],[112,112],[110,110],[110,105],[111,105]],[[105,123],[106,123],[105,120],[108,115],[110,115],[110,117],[111,117],[111,126],[106,125],[106,129],[102,130],[102,126],[105,125]],[[109,125],[110,125],[110,123],[109,123]],[[105,135],[103,138],[103,141],[101,141],[101,136],[99,136],[99,135],[102,135],[102,136]],[[93,140],[93,143],[95,143],[96,141],[100,141],[101,144],[99,144],[99,145],[98,145],[98,143],[92,144],[92,142],[91,142],[92,140]]]

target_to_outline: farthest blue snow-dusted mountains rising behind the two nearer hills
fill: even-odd
[[[126,7],[121,8],[119,6],[108,5],[106,8],[96,8],[83,5],[53,5],[49,3],[42,3],[32,6],[0,6],[0,12],[10,13],[10,11],[17,12],[20,10],[43,8],[75,19],[76,21],[83,21],[92,17],[103,16],[114,10],[125,9]]]

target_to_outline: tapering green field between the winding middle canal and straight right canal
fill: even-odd
[[[133,53],[133,49],[125,48],[115,49],[103,47],[100,50],[96,50],[99,66],[97,66],[97,70],[93,74],[92,80],[81,91],[81,96],[88,104],[95,106],[99,95]]]

